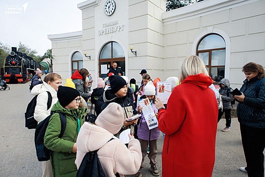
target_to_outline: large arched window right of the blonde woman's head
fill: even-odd
[[[202,38],[197,46],[197,56],[203,60],[215,83],[225,77],[226,43],[222,36],[209,34]]]

